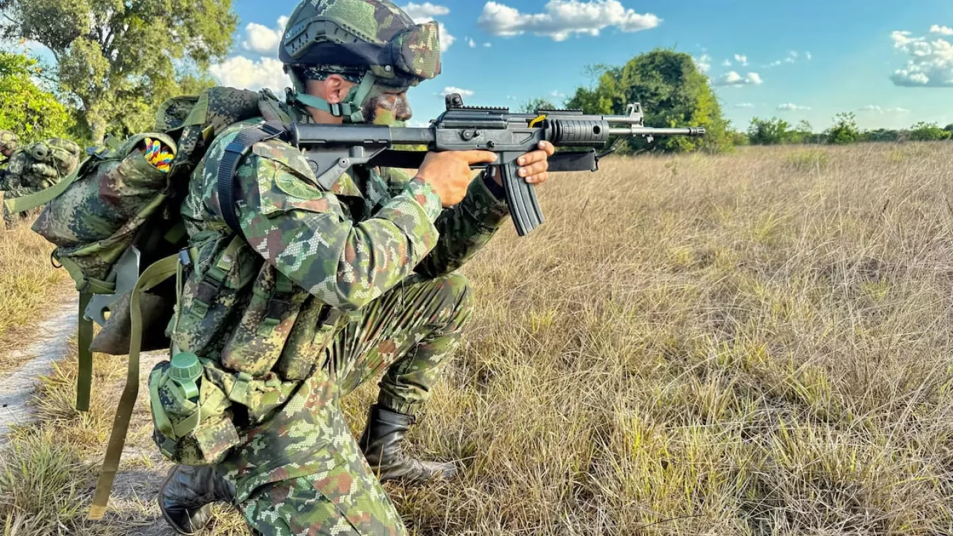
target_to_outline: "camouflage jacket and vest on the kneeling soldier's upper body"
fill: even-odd
[[[325,191],[300,151],[270,140],[255,144],[237,170],[246,240],[235,240],[221,217],[216,174],[225,147],[257,122],[215,139],[182,205],[194,270],[172,340],[232,370],[302,380],[332,335],[319,321],[328,309],[360,309],[415,272],[456,270],[509,214],[482,175],[447,209],[429,184],[395,169],[358,168]]]

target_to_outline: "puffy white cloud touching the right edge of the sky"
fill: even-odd
[[[890,76],[894,85],[908,88],[953,87],[953,44],[940,37],[931,41],[926,37],[911,35],[909,31],[890,33],[894,49],[908,56],[906,66]]]

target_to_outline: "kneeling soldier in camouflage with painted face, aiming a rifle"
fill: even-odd
[[[389,0],[302,1],[286,28],[279,57],[294,91],[275,110],[283,121],[406,121],[407,91],[440,72],[436,23],[417,26]],[[207,524],[213,501],[237,505],[256,534],[403,534],[380,483],[456,471],[401,442],[470,316],[456,269],[509,214],[499,173],[470,170],[496,155],[429,154],[414,177],[356,168],[326,188],[299,151],[271,139],[240,160],[234,207],[223,209],[225,150],[260,123],[223,132],[195,170],[182,214],[197,260],[172,341],[205,359],[202,381],[222,378],[223,392],[260,378],[287,400],[236,411],[237,438],[212,436],[229,448],[224,461],[173,467],[161,511],[182,534]],[[519,174],[542,183],[553,152],[542,142]],[[240,230],[223,216],[232,210]],[[355,442],[338,400],[380,373]]]

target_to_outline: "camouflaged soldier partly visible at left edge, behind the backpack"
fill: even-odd
[[[7,141],[8,134],[12,136],[11,141]],[[66,175],[70,175],[79,164],[80,148],[69,139],[53,137],[17,148],[16,135],[2,131],[0,143],[3,144],[0,152],[9,156],[0,179],[0,190],[5,192],[7,199],[46,190]],[[16,216],[4,208],[4,221],[8,226],[14,222]]]

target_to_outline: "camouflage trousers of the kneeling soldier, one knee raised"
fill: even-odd
[[[411,276],[355,313],[325,350],[325,366],[224,462],[235,503],[256,534],[405,534],[338,401],[384,372],[378,403],[415,411],[459,345],[470,311],[467,280],[455,273]]]

